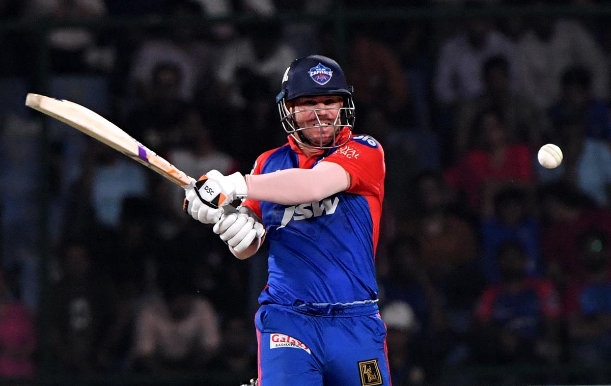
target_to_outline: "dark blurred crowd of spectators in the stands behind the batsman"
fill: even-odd
[[[247,173],[285,142],[274,96],[312,53],[340,62],[355,133],[386,151],[376,266],[393,384],[441,382],[447,366],[611,365],[611,27],[541,12],[559,4],[609,2],[422,0],[467,16],[348,21],[345,36],[294,17],[332,0],[0,2],[4,26],[28,26],[0,29],[0,376],[35,374],[43,340],[67,374],[256,374],[265,249],[233,258],[182,213],[181,188],[23,100],[90,107],[193,177]],[[556,169],[536,162],[546,143],[564,153]]]

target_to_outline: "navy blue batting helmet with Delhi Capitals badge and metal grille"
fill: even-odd
[[[323,125],[319,122],[320,125],[300,128],[294,119],[296,111],[291,111],[287,107],[286,102],[300,96],[342,96],[344,100],[343,107],[340,107],[336,122],[332,124],[332,126],[337,128],[337,133],[339,133],[342,128],[348,127],[351,131],[354,126],[354,101],[352,93],[353,87],[348,86],[346,76],[335,60],[322,55],[310,55],[295,59],[287,68],[287,71],[285,71],[280,93],[276,96],[282,127],[299,143],[311,147],[332,148],[343,145],[349,140],[349,135],[342,144],[337,143],[337,137],[335,136],[331,144],[312,144],[305,140],[300,131]],[[316,111],[316,109],[313,109],[313,111]]]

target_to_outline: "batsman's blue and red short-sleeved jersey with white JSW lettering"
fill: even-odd
[[[261,304],[343,304],[378,296],[375,250],[384,198],[384,151],[370,136],[306,157],[295,139],[257,158],[252,174],[310,169],[335,162],[351,177],[349,188],[300,205],[246,199],[263,220],[269,241],[268,284]]]

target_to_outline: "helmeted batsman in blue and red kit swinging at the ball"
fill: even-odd
[[[375,274],[384,151],[352,133],[352,94],[335,60],[294,60],[276,97],[287,144],[260,155],[251,174],[210,170],[186,192],[186,212],[214,224],[235,257],[269,242],[255,315],[259,386],[391,385]],[[243,201],[224,211],[205,194]]]

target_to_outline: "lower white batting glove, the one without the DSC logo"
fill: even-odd
[[[238,253],[244,252],[255,238],[265,235],[263,224],[246,206],[240,206],[237,213],[223,214],[212,230]]]

